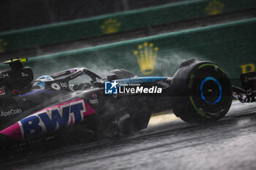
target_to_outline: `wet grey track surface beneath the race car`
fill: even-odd
[[[122,139],[12,150],[0,169],[256,169],[255,103],[207,125],[163,120]]]

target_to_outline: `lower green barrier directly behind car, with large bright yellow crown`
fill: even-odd
[[[98,74],[122,68],[138,76],[173,76],[182,61],[197,58],[218,63],[238,85],[239,74],[255,71],[254,28],[256,18],[43,55],[26,65],[36,77],[80,66]]]

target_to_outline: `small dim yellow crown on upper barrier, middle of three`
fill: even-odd
[[[121,26],[121,23],[118,22],[118,20],[110,18],[108,20],[105,20],[102,26],[102,31],[104,34],[111,34],[111,33],[116,33],[119,31],[119,28]]]

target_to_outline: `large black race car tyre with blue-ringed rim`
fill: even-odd
[[[173,112],[187,123],[219,120],[232,102],[230,80],[215,63],[194,61],[181,67],[171,88],[175,94]]]

